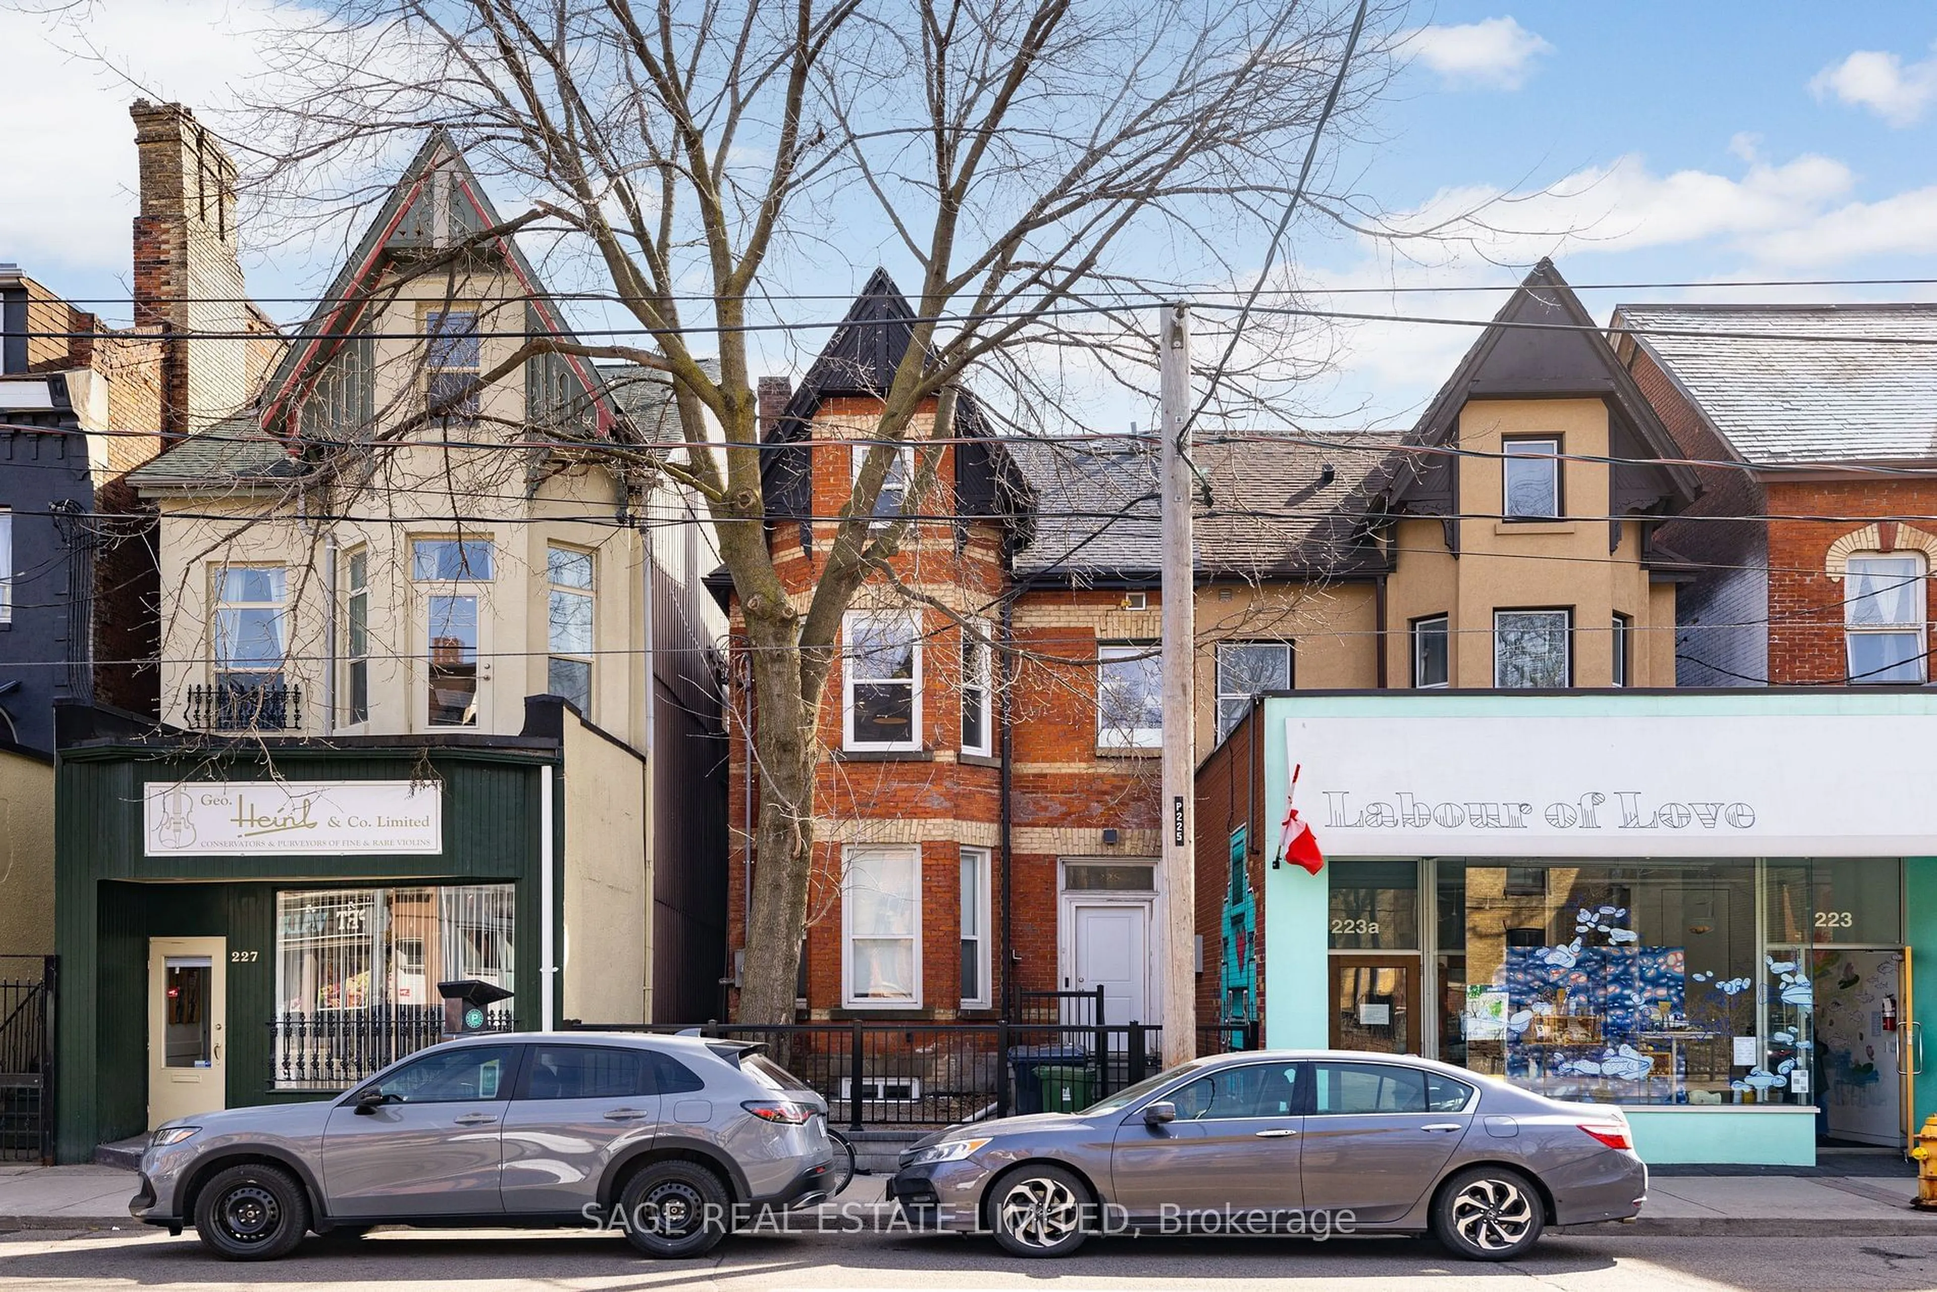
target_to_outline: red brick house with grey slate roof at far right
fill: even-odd
[[[1701,500],[1662,535],[1703,568],[1681,597],[1681,686],[1927,684],[1937,306],[1621,306],[1614,322],[1637,329],[1621,360],[1701,463]]]

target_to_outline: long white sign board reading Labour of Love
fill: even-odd
[[[1327,856],[1904,856],[1937,850],[1929,717],[1286,719]]]

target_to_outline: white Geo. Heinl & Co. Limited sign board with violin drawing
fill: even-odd
[[[147,856],[444,850],[444,798],[409,781],[151,781]]]

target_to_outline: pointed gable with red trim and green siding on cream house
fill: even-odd
[[[329,424],[366,420],[372,415],[368,376],[374,366],[374,347],[368,337],[356,337],[356,331],[366,322],[372,292],[382,300],[378,285],[384,275],[393,265],[436,256],[502,225],[504,217],[449,134],[434,130],[364,227],[362,238],[337,269],[316,314],[285,347],[283,362],[261,393],[263,430],[291,442],[294,451],[306,438],[306,424],[314,430],[318,420]],[[513,236],[490,236],[477,254],[498,258],[504,271],[517,281],[527,300],[527,331],[571,339],[571,329]],[[442,267],[436,273],[442,273]],[[548,401],[562,403],[556,391],[564,385],[571,399],[583,399],[593,409],[597,434],[610,434],[620,409],[589,358],[546,354],[531,360],[527,370],[527,395],[546,391]],[[316,405],[308,418],[306,403]],[[316,416],[318,411],[323,418]]]

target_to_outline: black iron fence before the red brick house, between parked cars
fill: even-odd
[[[827,1100],[848,1129],[980,1122],[1011,1112],[1083,1108],[1162,1067],[1164,1031],[1145,1023],[846,1023],[649,1027],[577,1023],[583,1031],[697,1031],[765,1046]],[[1257,1025],[1199,1029],[1199,1054],[1255,1050]]]

